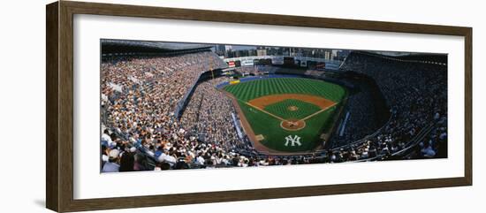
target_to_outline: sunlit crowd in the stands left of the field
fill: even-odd
[[[174,110],[202,72],[225,66],[209,51],[174,57],[104,60],[101,67],[102,122],[106,126],[102,136],[103,171],[104,165],[113,165],[106,164],[114,161],[111,158],[125,153],[135,153],[126,156],[132,156],[127,161],[139,165],[135,166],[138,170],[148,168],[144,155],[147,153],[173,162],[174,156],[163,148],[182,150],[178,144],[187,142],[186,131],[174,118]],[[140,149],[146,153],[140,153]]]

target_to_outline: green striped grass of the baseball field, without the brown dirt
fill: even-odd
[[[346,97],[346,89],[337,84],[323,80],[310,80],[303,78],[276,78],[242,82],[236,85],[224,87],[238,99],[239,106],[247,118],[248,123],[256,135],[262,134],[264,139],[261,141],[268,148],[285,151],[301,152],[314,149],[322,140],[321,133],[330,129],[332,118],[336,116],[341,104]],[[257,110],[247,104],[264,95],[279,94],[304,94],[324,97],[330,101],[338,103],[323,112],[305,120],[306,126],[298,131],[288,131],[280,126],[281,120],[270,116],[262,110]],[[298,110],[289,110],[290,106],[295,106]],[[320,107],[300,100],[286,99],[279,103],[266,106],[265,109],[273,115],[285,119],[307,118],[309,115],[321,110]],[[300,146],[285,146],[285,137],[300,137]]]

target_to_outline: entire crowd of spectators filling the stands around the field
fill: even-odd
[[[392,109],[392,117],[378,132],[364,139],[354,141],[361,136],[350,136],[346,141],[354,142],[306,156],[255,154],[251,144],[239,138],[231,116],[236,114],[232,101],[215,87],[228,79],[218,77],[198,83],[202,72],[226,66],[209,51],[103,61],[102,171],[338,163],[383,159],[400,151],[404,153],[401,157],[409,158],[445,155],[447,76],[439,65],[397,62],[359,52],[350,54],[341,69],[374,78]],[[174,110],[192,88],[178,120]],[[350,104],[359,106],[360,98],[366,98],[356,97]],[[354,113],[360,115],[369,108],[372,107],[355,107]],[[367,117],[351,117],[363,118]],[[352,120],[346,131],[360,128],[353,123],[362,122]],[[412,140],[430,125],[420,141]],[[411,146],[411,142],[416,146]]]

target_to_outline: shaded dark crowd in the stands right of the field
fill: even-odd
[[[447,146],[447,70],[444,65],[403,62],[367,52],[353,52],[341,66],[345,71],[362,72],[376,80],[391,108],[390,121],[375,135],[352,143],[339,152],[352,159],[390,156],[410,147],[421,130],[429,134],[418,141],[421,148],[408,157],[444,155]],[[442,150],[439,150],[442,149]],[[445,152],[444,152],[445,149]],[[434,154],[434,155],[432,155]]]

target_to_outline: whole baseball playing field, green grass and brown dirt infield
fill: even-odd
[[[322,145],[323,133],[334,125],[332,118],[339,116],[339,103],[346,98],[344,87],[306,78],[256,79],[224,90],[236,99],[250,141],[274,154]]]

